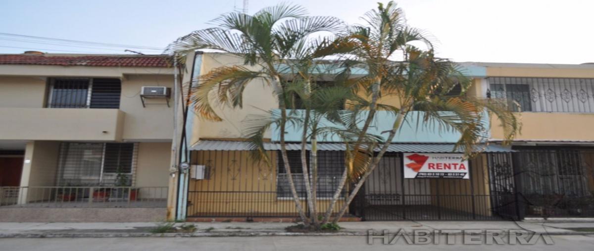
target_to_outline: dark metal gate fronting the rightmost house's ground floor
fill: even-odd
[[[514,167],[522,214],[594,216],[594,150],[591,148],[518,148]]]

